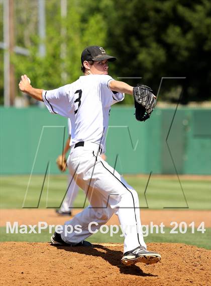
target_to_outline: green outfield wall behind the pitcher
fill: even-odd
[[[211,110],[157,108],[138,122],[133,107],[113,107],[107,160],[121,173],[210,174]],[[67,139],[67,119],[45,108],[0,108],[0,172],[59,173],[56,157]]]

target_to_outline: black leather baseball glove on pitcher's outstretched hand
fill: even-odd
[[[149,119],[156,106],[156,98],[152,93],[152,89],[147,85],[138,84],[133,88],[133,96],[136,119],[138,121]]]

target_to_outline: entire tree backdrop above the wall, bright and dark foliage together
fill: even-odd
[[[50,89],[81,75],[80,54],[88,45],[100,45],[118,60],[110,64],[115,77],[132,85],[142,81],[158,90],[159,100],[177,101],[170,90],[183,86],[182,103],[210,100],[211,3],[208,0],[69,0],[67,17],[61,17],[60,1],[45,1],[46,56],[39,55],[37,1],[15,1],[15,42],[30,56],[12,56],[18,78],[27,73],[36,87]],[[3,41],[3,3],[0,4]],[[1,55],[1,62],[3,57]],[[3,64],[0,66],[3,74]],[[3,80],[0,81],[3,96]],[[21,94],[18,91],[19,94]],[[175,92],[174,92],[175,93]],[[124,103],[132,103],[127,97]]]

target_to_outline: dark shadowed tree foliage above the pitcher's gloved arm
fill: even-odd
[[[209,1],[122,0],[115,2],[115,11],[114,22],[109,25],[118,25],[118,29],[111,30],[108,45],[112,45],[115,54],[124,56],[118,65],[122,76],[143,76],[143,81],[154,90],[162,76],[184,76],[185,81],[166,80],[160,100],[166,91],[181,85],[183,103],[210,99]],[[169,94],[168,100],[171,99],[174,100]]]

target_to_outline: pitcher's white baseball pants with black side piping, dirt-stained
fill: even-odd
[[[127,184],[121,175],[98,154],[99,146],[84,142],[83,147],[71,147],[67,165],[77,185],[85,192],[89,206],[65,225],[82,227],[81,233],[69,233],[61,238],[65,242],[78,243],[91,235],[88,226],[91,222],[94,231],[117,214],[124,230],[124,252],[140,245],[145,246],[140,220],[139,199],[136,191]]]

